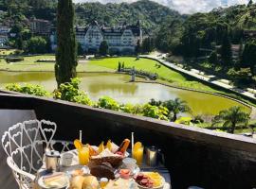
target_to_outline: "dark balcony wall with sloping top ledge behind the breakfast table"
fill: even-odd
[[[251,138],[30,95],[0,94],[0,112],[7,109],[32,110],[37,119],[56,122],[58,140],[73,140],[82,129],[84,142],[119,143],[134,131],[143,144],[162,149],[174,189],[256,187],[256,141]],[[17,116],[9,114],[9,119]]]

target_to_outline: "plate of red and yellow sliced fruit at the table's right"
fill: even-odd
[[[157,172],[140,172],[134,178],[139,189],[163,189],[165,180]]]

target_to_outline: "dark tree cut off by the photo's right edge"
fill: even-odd
[[[242,55],[242,67],[249,67],[252,76],[255,75],[256,41],[248,42]]]

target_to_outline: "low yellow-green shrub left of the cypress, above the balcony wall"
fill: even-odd
[[[49,96],[50,94],[40,85],[25,84],[24,86],[17,83],[10,83],[6,85],[6,89],[22,94],[33,94],[38,96]]]

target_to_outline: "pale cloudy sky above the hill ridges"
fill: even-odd
[[[74,0],[75,3],[82,2],[101,2],[101,3],[133,3],[137,0]],[[236,4],[247,4],[249,0],[153,0],[159,4],[175,9],[182,14],[192,14],[195,12],[208,12],[218,8],[228,2],[228,6]],[[256,0],[254,0],[256,2]]]

